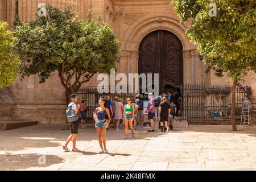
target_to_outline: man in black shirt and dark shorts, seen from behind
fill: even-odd
[[[161,132],[166,132],[168,127],[168,118],[171,111],[171,106],[168,103],[167,97],[163,97],[163,101],[159,106],[159,115],[160,115],[160,126]]]

